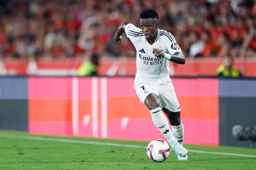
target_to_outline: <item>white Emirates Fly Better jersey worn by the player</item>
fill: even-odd
[[[170,81],[170,65],[169,60],[161,57],[155,57],[152,53],[153,48],[160,48],[164,53],[174,54],[181,48],[177,44],[171,33],[158,29],[158,36],[155,42],[150,45],[146,40],[142,29],[127,24],[125,26],[126,36],[131,40],[136,48],[136,68],[137,73],[134,84],[151,83],[164,84]]]

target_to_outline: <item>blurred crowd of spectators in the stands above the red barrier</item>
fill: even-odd
[[[135,57],[113,35],[148,8],[186,57],[256,56],[255,0],[1,0],[0,58]]]

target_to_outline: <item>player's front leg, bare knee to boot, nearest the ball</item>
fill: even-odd
[[[186,156],[187,150],[182,147],[171,133],[169,123],[162,113],[160,107],[159,97],[155,93],[150,93],[144,100],[145,105],[149,108],[152,121],[158,130],[163,134],[163,136],[168,140],[171,147],[180,156]]]

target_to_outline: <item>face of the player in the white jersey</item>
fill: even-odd
[[[147,40],[152,40],[155,37],[157,28],[158,28],[158,21],[157,19],[147,18],[141,19],[141,29],[146,37]]]

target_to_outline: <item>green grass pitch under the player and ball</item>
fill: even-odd
[[[171,151],[155,163],[148,143],[0,130],[0,169],[256,169],[256,149],[184,145],[190,160],[177,160]]]

